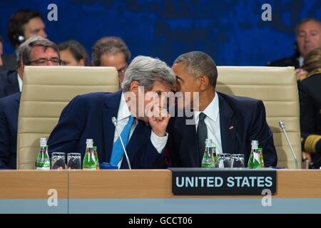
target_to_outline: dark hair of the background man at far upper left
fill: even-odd
[[[24,25],[28,24],[31,19],[37,17],[42,19],[41,13],[38,11],[31,11],[29,9],[21,9],[11,15],[7,35],[12,46],[20,44],[17,36],[24,36]]]

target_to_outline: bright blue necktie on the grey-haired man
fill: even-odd
[[[123,139],[124,147],[127,147],[129,141],[129,133],[131,132],[131,126],[133,125],[133,120],[135,118],[133,115],[129,116],[129,120],[123,131],[121,132],[121,138]],[[118,162],[123,157],[123,146],[121,145],[121,140],[119,137],[117,138],[116,142],[113,144],[113,150],[111,152],[111,165],[118,165]]]

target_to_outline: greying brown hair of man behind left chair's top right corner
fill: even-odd
[[[116,36],[100,38],[91,48],[91,60],[93,61],[93,66],[101,66],[102,55],[116,53],[123,53],[127,63],[131,59],[131,52],[122,38]]]

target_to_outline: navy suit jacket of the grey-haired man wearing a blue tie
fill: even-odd
[[[99,162],[111,160],[115,126],[121,91],[116,93],[89,93],[78,95],[63,109],[58,125],[52,131],[48,145],[49,153],[55,151],[86,151],[86,139],[92,138],[97,146]],[[165,158],[151,142],[151,127],[139,121],[126,147],[133,169],[165,167]],[[123,159],[121,168],[128,168]]]

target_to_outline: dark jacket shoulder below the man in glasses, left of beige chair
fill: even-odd
[[[16,71],[0,71],[0,98],[19,92]]]

